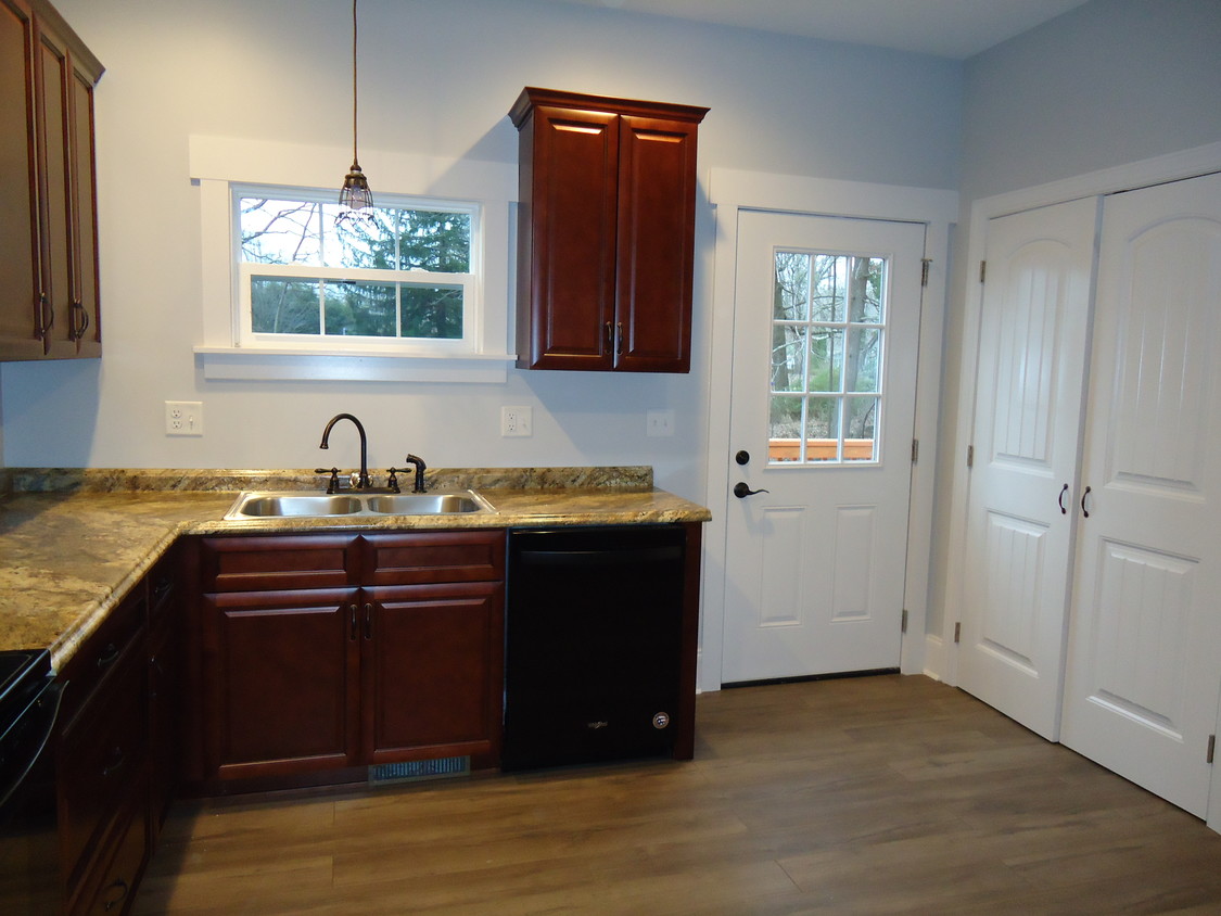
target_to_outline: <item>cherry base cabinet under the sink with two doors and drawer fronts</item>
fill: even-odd
[[[495,766],[504,537],[203,539],[203,788],[346,782],[368,765],[451,756]],[[337,587],[283,587],[303,579]]]

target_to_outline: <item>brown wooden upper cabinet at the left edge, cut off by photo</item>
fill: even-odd
[[[45,0],[0,0],[0,359],[101,354],[93,94]],[[21,176],[26,180],[22,181]]]

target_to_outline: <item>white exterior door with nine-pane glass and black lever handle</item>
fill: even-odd
[[[923,247],[740,211],[723,683],[899,666]]]

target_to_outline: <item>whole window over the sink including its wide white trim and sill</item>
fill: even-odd
[[[343,150],[193,136],[189,156],[205,379],[504,383],[516,164],[369,150],[376,211],[349,228]]]

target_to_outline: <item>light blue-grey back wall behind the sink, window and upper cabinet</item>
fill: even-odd
[[[701,200],[690,376],[509,370],[507,385],[209,382],[195,368],[201,300],[192,134],[343,147],[349,10],[341,0],[57,0],[107,72],[98,89],[105,355],[5,365],[4,463],[305,467],[350,410],[379,467],[408,448],[435,465],[642,463],[702,498],[712,366],[713,219]],[[960,64],[534,0],[361,0],[360,143],[515,162],[505,114],[525,84],[712,109],[714,166],[954,188]],[[336,162],[336,180],[348,162]],[[368,164],[366,164],[368,166]],[[370,175],[375,192],[377,176]],[[393,188],[386,188],[393,191]],[[164,401],[203,401],[203,438],[167,438]],[[535,436],[499,437],[530,404]],[[670,407],[673,440],[645,437]],[[716,405],[713,409],[724,409]],[[338,445],[338,443],[337,443]],[[332,452],[339,462],[352,456]]]

